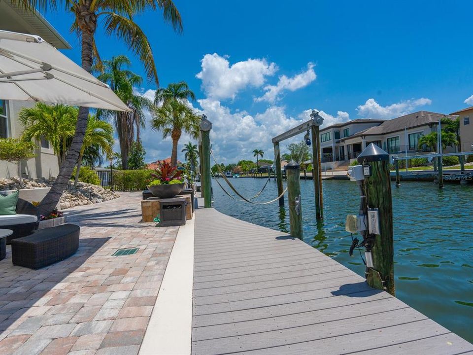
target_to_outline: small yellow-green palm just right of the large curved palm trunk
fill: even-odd
[[[89,115],[87,120],[87,129],[85,130],[84,143],[79,152],[77,160],[77,169],[75,171],[74,186],[79,181],[79,171],[82,165],[84,151],[89,147],[98,147],[99,151],[110,157],[113,153],[113,127],[110,123],[99,120],[95,115]]]

